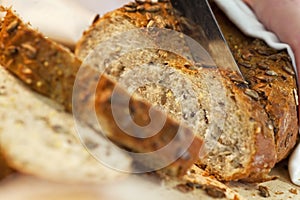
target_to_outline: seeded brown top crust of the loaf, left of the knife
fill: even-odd
[[[101,23],[103,23],[101,25]],[[151,1],[136,1],[130,2],[124,7],[116,9],[105,14],[103,17],[96,19],[91,27],[84,32],[75,48],[75,55],[81,59],[87,56],[86,51],[95,48],[97,43],[89,43],[86,38],[92,37],[95,32],[101,33],[101,29],[108,30],[108,26],[116,26],[114,32],[128,31],[128,27],[122,27],[124,23],[130,24],[133,28],[166,28],[179,31],[179,22],[168,0],[151,3]],[[100,26],[99,26],[100,25]],[[118,27],[119,26],[119,27]],[[120,28],[122,27],[122,28]],[[111,36],[114,32],[110,32]],[[96,33],[97,34],[97,33]],[[108,39],[108,38],[106,38]],[[99,41],[97,41],[99,42]]]

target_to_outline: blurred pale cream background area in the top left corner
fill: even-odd
[[[73,47],[92,23],[96,13],[104,14],[128,0],[0,0],[13,7],[45,36]]]

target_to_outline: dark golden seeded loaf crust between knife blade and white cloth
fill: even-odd
[[[258,101],[274,127],[279,162],[289,155],[298,135],[297,83],[291,60],[286,51],[245,36],[218,8],[213,8],[245,79],[259,95]]]

